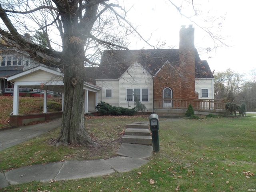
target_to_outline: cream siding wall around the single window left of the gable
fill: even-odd
[[[98,80],[96,85],[101,87],[98,94],[98,102],[104,101],[112,106],[119,106],[119,83],[118,80]],[[112,97],[106,98],[106,89],[112,90]]]

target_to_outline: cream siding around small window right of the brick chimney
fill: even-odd
[[[208,97],[202,97],[202,89],[208,89]],[[213,79],[196,79],[195,90],[198,92],[199,99],[214,99]]]

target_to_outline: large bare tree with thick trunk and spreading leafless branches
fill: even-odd
[[[181,9],[176,8],[182,14]],[[108,0],[1,1],[0,18],[4,26],[0,34],[11,40],[12,46],[28,52],[34,60],[58,67],[64,73],[64,112],[56,144],[98,146],[84,129],[84,65],[99,61],[103,48],[127,49],[128,43],[123,39],[129,38],[132,32],[144,40],[125,16],[124,8]],[[22,35],[37,30],[46,38],[47,48]]]

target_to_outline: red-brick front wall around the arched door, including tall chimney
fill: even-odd
[[[194,28],[180,29],[179,66],[166,63],[154,77],[154,99],[163,98],[166,87],[172,89],[172,98],[197,99],[195,92]]]

